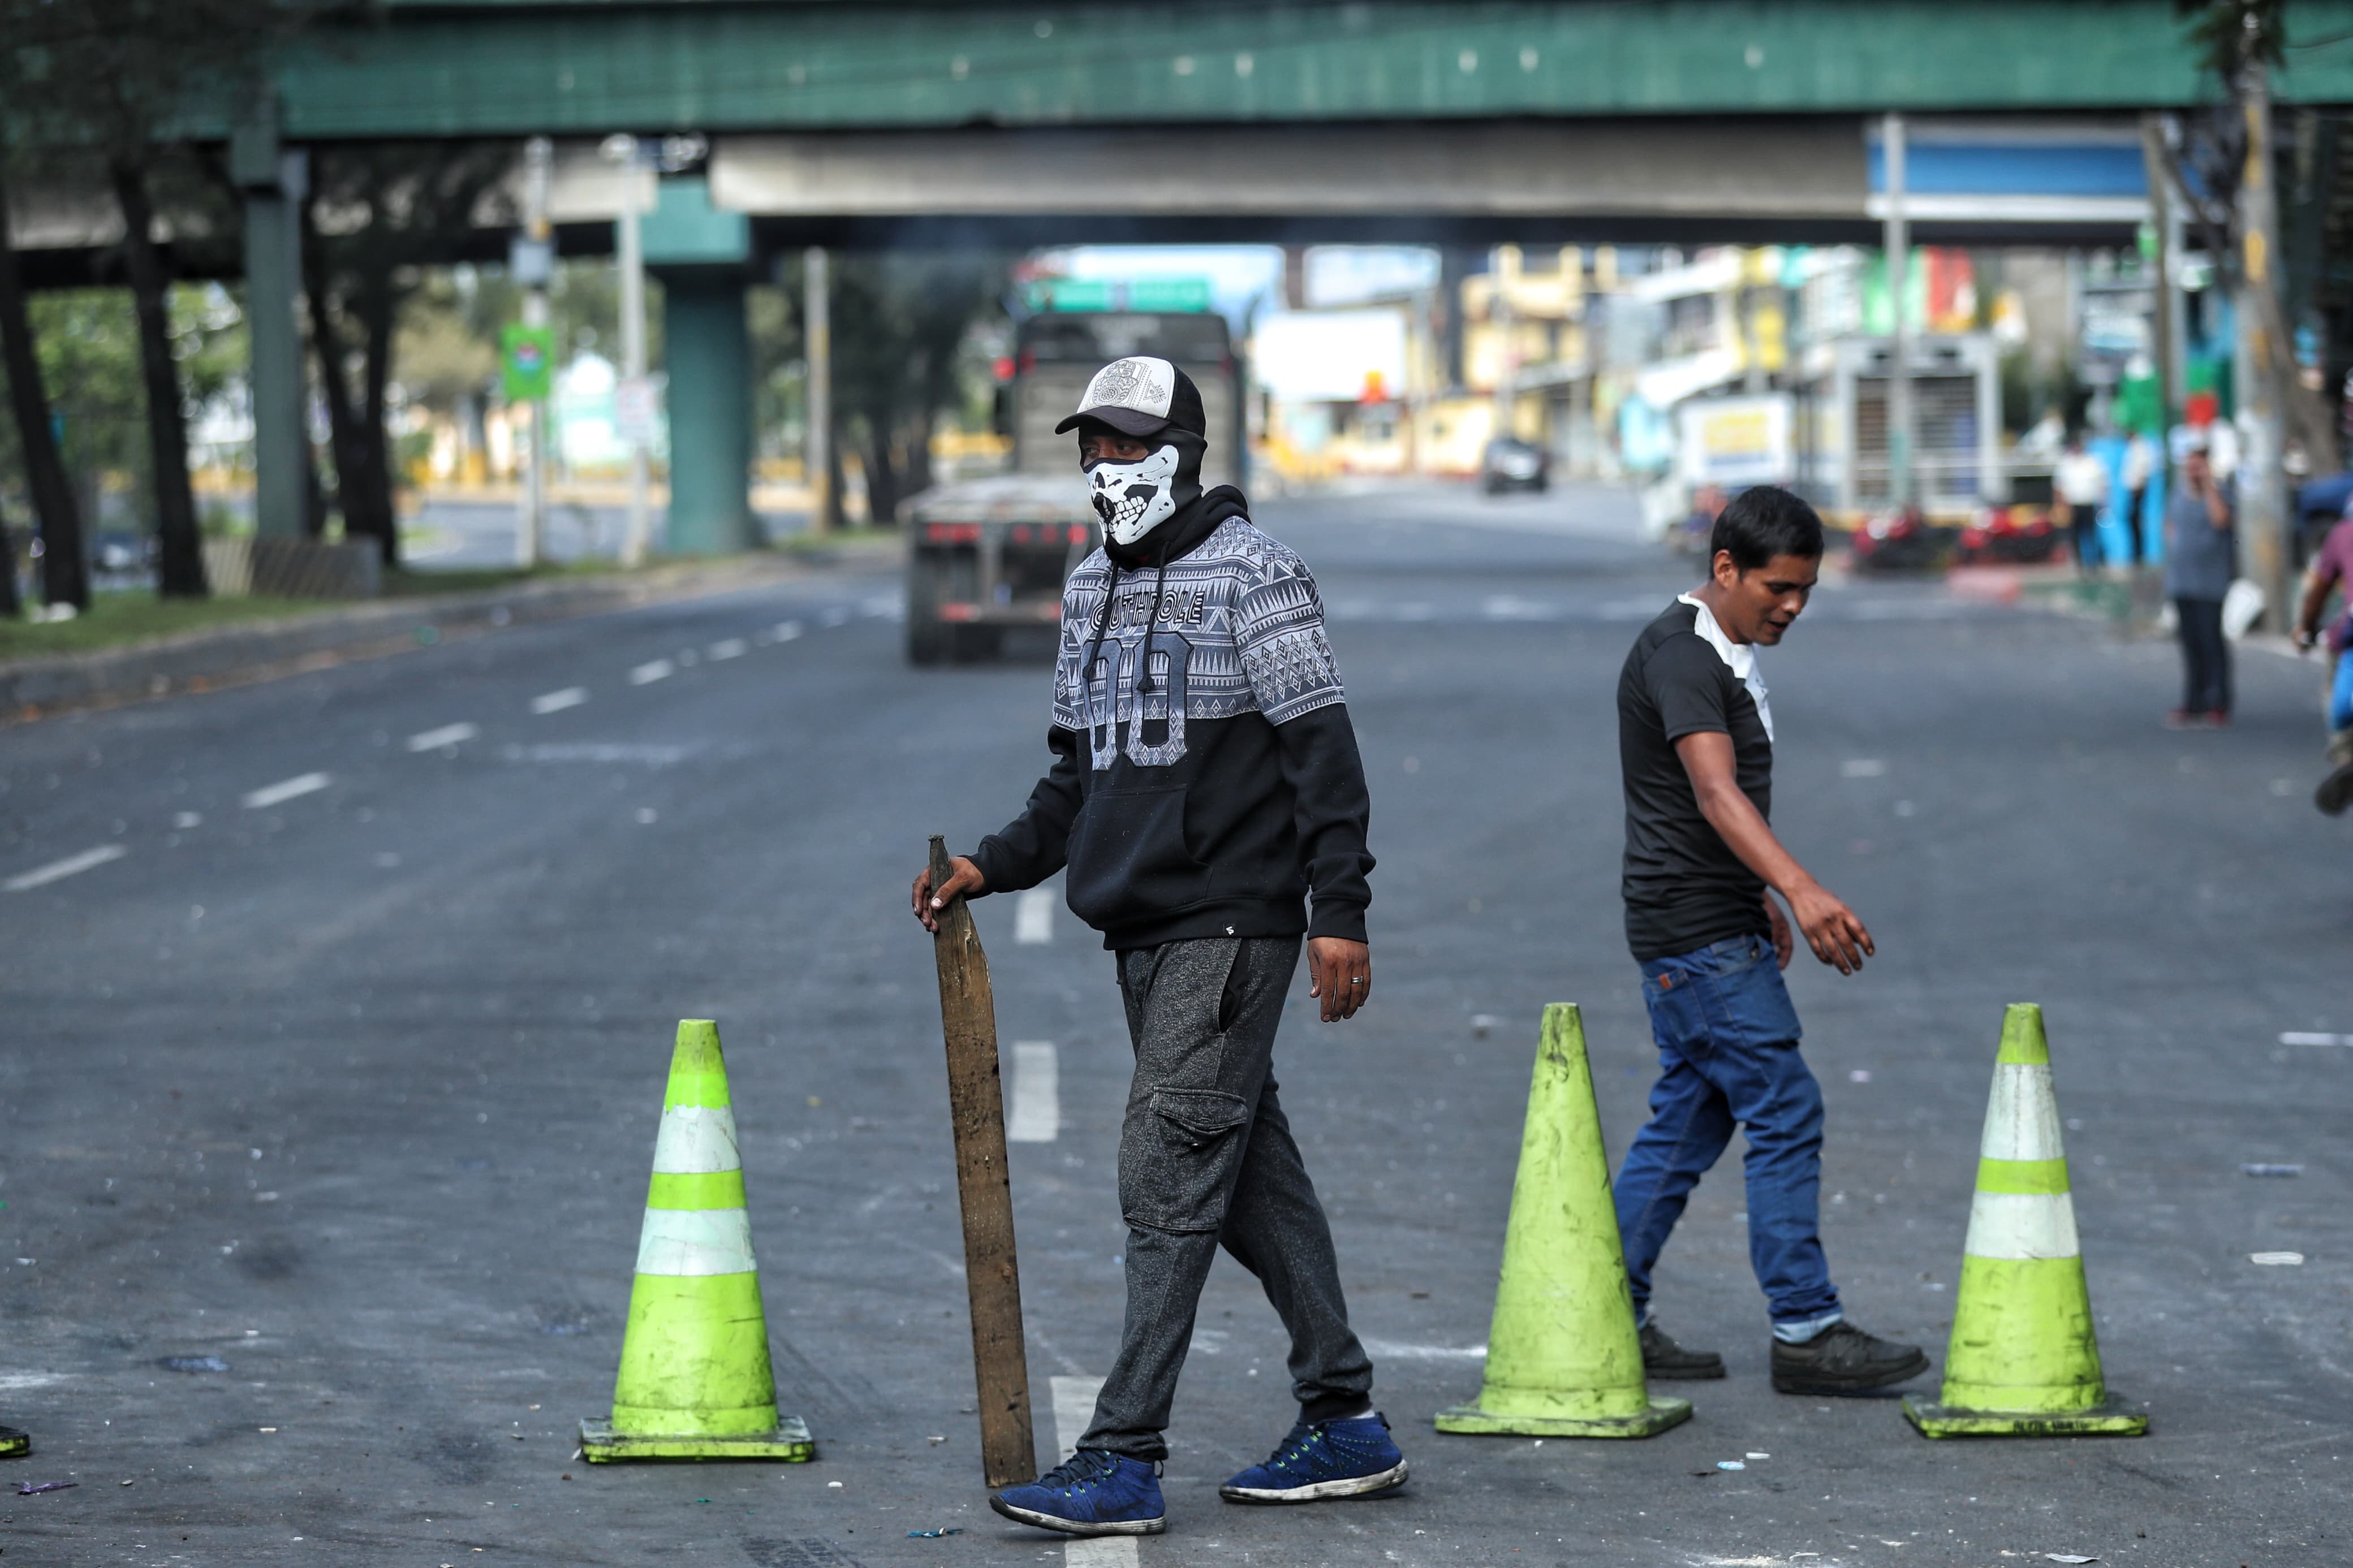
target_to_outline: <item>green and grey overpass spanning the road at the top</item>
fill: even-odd
[[[2353,103],[2353,0],[2294,26],[2280,101]],[[647,259],[673,355],[729,364],[744,284],[812,240],[1871,240],[1885,110],[1929,118],[1915,188],[1960,148],[1920,237],[2113,242],[2132,118],[2217,99],[2169,0],[386,0],[193,113],[233,146],[259,517],[294,534],[306,146],[711,136]]]

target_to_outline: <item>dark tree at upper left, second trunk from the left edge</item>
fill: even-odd
[[[188,425],[155,244],[158,150],[184,141],[186,110],[247,101],[268,49],[339,0],[0,0],[0,99],[21,146],[99,167],[122,209],[122,270],[139,317],[160,567],[155,588],[205,592]]]

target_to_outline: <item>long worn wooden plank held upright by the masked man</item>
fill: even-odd
[[[948,879],[948,844],[932,839],[932,886]],[[958,898],[939,912],[939,1025],[948,1041],[948,1121],[955,1197],[965,1211],[965,1288],[972,1295],[972,1371],[979,1385],[981,1469],[988,1486],[1038,1479],[1031,1434],[1028,1347],[1021,1340],[1021,1265],[1014,1192],[1005,1168],[1005,1091],[998,1084],[998,1006],[988,954]]]

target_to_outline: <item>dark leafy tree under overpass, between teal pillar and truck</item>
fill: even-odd
[[[873,522],[929,489],[934,421],[962,402],[965,334],[1007,277],[995,254],[885,252],[833,268],[833,400],[866,463]]]

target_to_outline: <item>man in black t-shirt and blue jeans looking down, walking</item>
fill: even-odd
[[[1772,1312],[1772,1385],[1859,1394],[1927,1371],[1845,1319],[1821,1253],[1821,1086],[1798,1053],[1781,985],[1795,943],[1838,973],[1873,952],[1845,903],[1781,849],[1772,813],[1772,705],[1755,644],[1772,646],[1821,574],[1821,517],[1769,484],[1715,520],[1711,569],[1642,628],[1619,675],[1626,778],[1626,940],[1659,1041],[1649,1124],[1612,1187],[1649,1378],[1722,1378],[1649,1319],[1649,1272],[1699,1178],[1748,1138],[1748,1260]],[[1769,959],[1769,961],[1767,961]]]

